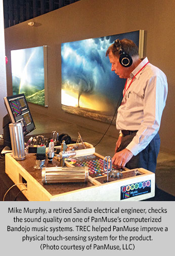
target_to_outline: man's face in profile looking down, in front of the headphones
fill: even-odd
[[[111,71],[115,71],[115,74],[119,78],[129,78],[130,69],[123,67],[119,62],[119,57],[115,56],[111,51],[109,52],[109,60],[111,63]]]

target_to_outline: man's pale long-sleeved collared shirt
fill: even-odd
[[[127,79],[126,89],[132,78],[148,62],[147,57],[137,66]],[[167,97],[165,74],[148,63],[126,90],[118,108],[116,127],[118,130],[138,131],[126,147],[137,155],[157,134]]]

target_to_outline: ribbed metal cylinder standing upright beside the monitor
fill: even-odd
[[[25,145],[24,145],[24,134],[21,122],[10,123],[10,138],[12,144],[13,157],[17,160],[25,159]]]

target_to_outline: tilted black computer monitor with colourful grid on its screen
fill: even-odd
[[[36,128],[24,93],[5,97],[4,101],[11,122],[22,122],[24,136]]]

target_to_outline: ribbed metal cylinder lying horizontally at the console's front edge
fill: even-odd
[[[87,182],[89,169],[85,167],[43,167],[42,183]]]

